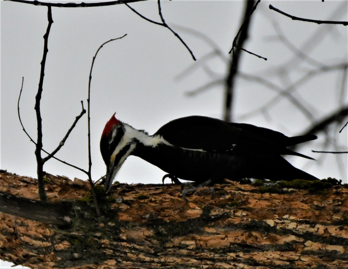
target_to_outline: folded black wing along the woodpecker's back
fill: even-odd
[[[226,152],[264,152],[290,154],[312,159],[286,147],[316,139],[315,135],[288,137],[280,132],[250,124],[227,123],[204,116],[189,116],[169,121],[154,135],[187,149]]]

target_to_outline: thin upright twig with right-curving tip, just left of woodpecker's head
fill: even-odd
[[[93,56],[92,59],[92,64],[90,66],[90,71],[89,71],[89,79],[88,79],[88,99],[87,99],[87,118],[88,118],[88,181],[89,181],[89,185],[90,185],[90,189],[92,192],[92,197],[93,197],[93,201],[94,201],[94,205],[95,205],[95,209],[96,209],[96,213],[98,216],[100,216],[100,210],[97,204],[97,197],[95,194],[95,190],[94,190],[94,183],[92,181],[92,174],[91,174],[91,169],[92,169],[92,155],[91,155],[91,150],[90,150],[90,82],[92,80],[92,70],[93,70],[93,65],[94,65],[94,60],[97,57],[97,54],[99,52],[99,50],[106,44],[109,43],[113,40],[117,40],[117,39],[121,39],[123,37],[125,37],[127,34],[122,35],[122,37],[118,37],[118,38],[113,38],[110,39],[106,42],[104,42],[102,45],[100,45],[100,47],[97,49],[95,55]]]

